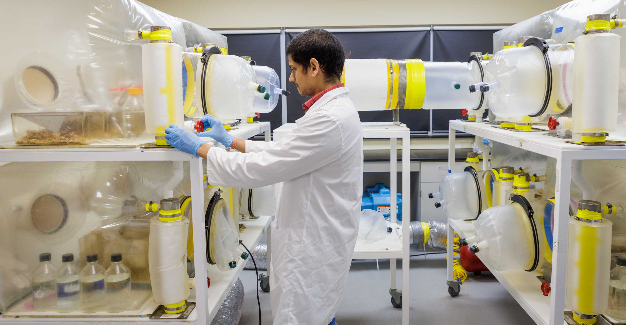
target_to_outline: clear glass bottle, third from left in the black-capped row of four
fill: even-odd
[[[80,271],[80,307],[84,312],[102,309],[105,301],[105,268],[98,264],[98,254],[87,255],[87,265]]]

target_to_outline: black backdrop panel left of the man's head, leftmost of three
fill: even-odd
[[[229,34],[228,54],[250,56],[259,66],[269,66],[280,76],[280,34]],[[272,123],[272,131],[282,125],[282,100],[274,111],[261,114],[259,121]]]

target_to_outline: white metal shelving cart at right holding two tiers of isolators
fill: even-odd
[[[582,146],[565,143],[565,139],[546,136],[543,132],[514,132],[493,128],[486,123],[449,123],[449,171],[454,172],[454,148],[456,131],[474,134],[491,139],[498,143],[508,144],[533,153],[542,154],[557,160],[555,184],[555,221],[553,227],[552,252],[552,291],[548,297],[543,296],[540,282],[536,276],[539,272],[503,271],[498,272],[489,265],[490,271],[501,282],[506,290],[515,298],[521,307],[537,324],[561,325],[565,322],[565,272],[567,267],[567,232],[568,211],[570,202],[570,183],[572,164],[583,160],[626,159],[626,146]],[[609,137],[609,140],[624,141],[623,138]],[[552,171],[551,171],[552,172]],[[448,218],[448,283],[453,279],[453,232],[459,236],[472,236],[474,225],[469,221],[454,221]]]

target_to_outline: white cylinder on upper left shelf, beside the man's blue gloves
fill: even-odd
[[[183,125],[182,47],[155,42],[141,46],[146,132],[163,133]]]

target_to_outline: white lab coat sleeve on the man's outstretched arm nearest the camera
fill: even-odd
[[[247,145],[247,143],[246,143]],[[256,188],[288,181],[341,157],[339,126],[326,114],[312,114],[280,141],[258,153],[210,148],[208,183]]]

